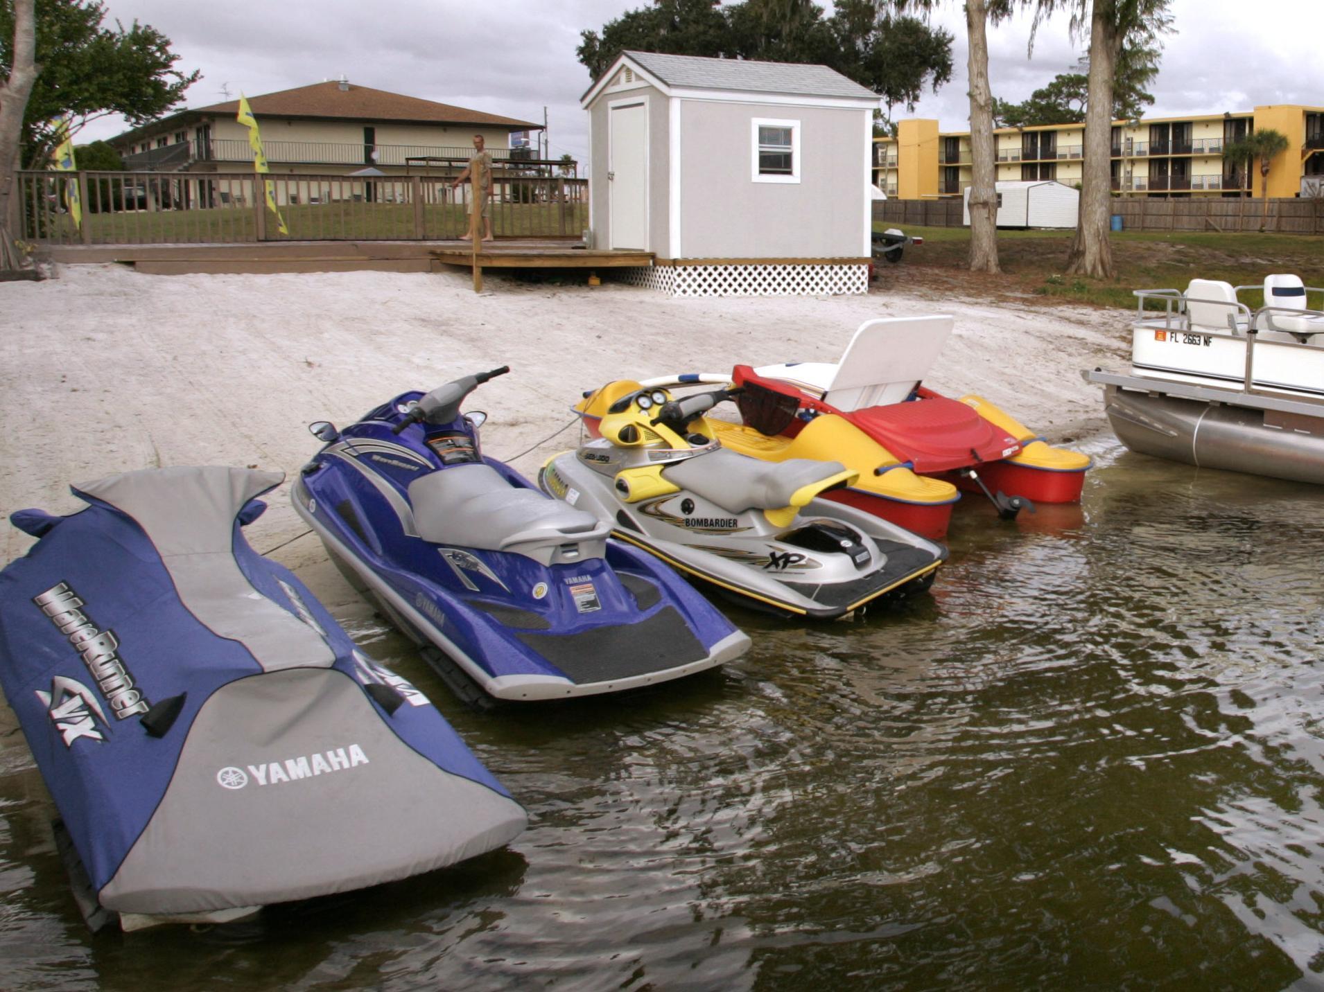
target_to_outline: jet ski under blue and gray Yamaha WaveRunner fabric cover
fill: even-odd
[[[281,474],[74,488],[0,571],[0,686],[87,922],[226,922],[499,848],[524,811],[242,524]]]

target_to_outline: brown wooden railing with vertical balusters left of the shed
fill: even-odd
[[[469,184],[434,176],[262,177],[252,172],[20,172],[16,237],[38,245],[196,245],[253,241],[445,241],[469,229]],[[82,204],[82,224],[69,212]],[[496,237],[579,238],[581,179],[494,176]]]

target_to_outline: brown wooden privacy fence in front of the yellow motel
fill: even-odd
[[[1116,197],[1108,208],[1121,216],[1123,230],[1258,231],[1264,201],[1249,197],[1160,200]],[[924,227],[961,227],[960,200],[880,200],[874,220]],[[1264,230],[1275,234],[1324,234],[1324,200],[1271,198]]]

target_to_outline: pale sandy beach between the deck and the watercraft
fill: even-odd
[[[295,472],[316,450],[306,425],[346,425],[408,389],[498,365],[471,409],[486,450],[510,458],[569,423],[584,390],[612,378],[726,372],[735,362],[834,361],[878,316],[952,313],[956,333],[925,380],[980,393],[1049,440],[1106,430],[1079,369],[1117,364],[1124,313],[907,295],[904,267],[867,296],[667,299],[467,274],[151,276],[61,266],[0,287],[0,388],[8,471],[0,511],[71,512],[69,484],[151,466],[241,464]],[[577,429],[515,462],[532,472]],[[305,528],[285,487],[249,533],[261,550]],[[4,532],[4,561],[32,540]],[[314,540],[277,556],[323,561]]]

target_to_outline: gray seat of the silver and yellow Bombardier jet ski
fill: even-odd
[[[798,489],[843,471],[841,462],[810,458],[760,462],[719,448],[670,466],[662,476],[730,513],[743,513],[788,507]]]

